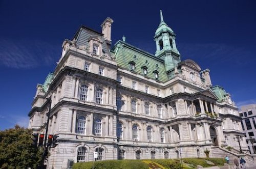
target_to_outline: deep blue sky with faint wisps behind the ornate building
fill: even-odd
[[[27,126],[37,83],[60,58],[64,39],[83,24],[101,32],[114,20],[112,41],[155,52],[153,36],[164,21],[177,34],[182,60],[209,68],[241,106],[256,103],[256,1],[0,1],[0,130]]]

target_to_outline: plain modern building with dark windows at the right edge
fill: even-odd
[[[241,106],[241,111],[239,112],[242,118],[241,124],[242,128],[246,133],[246,143],[251,154],[255,154],[256,151],[256,104],[249,104]]]

